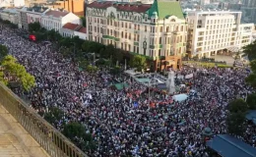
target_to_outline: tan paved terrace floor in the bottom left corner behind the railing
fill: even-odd
[[[1,105],[0,157],[49,157]]]

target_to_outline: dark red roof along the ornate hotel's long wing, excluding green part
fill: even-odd
[[[113,6],[117,10],[126,12],[137,12],[145,13],[151,8],[151,4],[128,4],[128,3],[116,3],[116,2],[93,2],[88,5],[90,8],[106,9],[107,7]]]

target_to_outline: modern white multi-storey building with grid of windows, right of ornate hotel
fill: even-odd
[[[240,24],[241,12],[191,11],[187,51],[192,56],[210,57],[225,50],[237,52],[251,43],[253,24]]]

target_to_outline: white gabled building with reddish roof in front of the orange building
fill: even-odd
[[[59,31],[67,23],[81,25],[82,21],[78,16],[66,11],[49,10],[41,15],[40,24],[48,30],[54,29]]]

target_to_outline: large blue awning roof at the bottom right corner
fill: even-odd
[[[255,157],[256,148],[229,134],[218,134],[207,146],[223,157]]]

